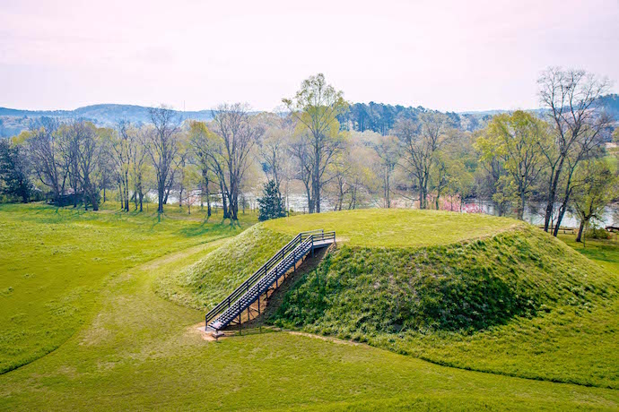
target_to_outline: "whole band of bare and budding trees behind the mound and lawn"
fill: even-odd
[[[604,145],[613,122],[599,104],[609,82],[550,68],[538,86],[542,112],[487,116],[483,128],[476,117],[423,107],[351,105],[322,74],[273,113],[222,104],[211,121],[183,121],[161,106],[149,109],[151,124],[114,127],[42,117],[0,141],[0,190],[4,201],[45,197],[92,210],[111,191],[125,211],[142,211],[153,192],[159,212],[174,193],[187,212],[199,203],[210,217],[217,202],[231,221],[245,193],[263,186],[287,210],[289,193],[303,193],[309,213],[326,204],[462,210],[476,197],[523,219],[527,203],[542,202],[545,230],[556,236],[571,211],[580,240],[619,197],[616,152]]]

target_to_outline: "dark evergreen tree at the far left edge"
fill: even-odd
[[[24,150],[9,139],[0,139],[0,193],[27,203],[31,191],[28,159]]]

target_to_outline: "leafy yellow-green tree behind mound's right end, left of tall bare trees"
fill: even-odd
[[[517,110],[493,117],[484,134],[475,142],[482,162],[501,159],[505,170],[496,182],[501,196],[518,199],[518,219],[523,219],[527,198],[545,167],[540,148],[548,146],[547,125],[530,113]]]

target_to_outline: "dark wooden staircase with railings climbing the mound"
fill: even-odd
[[[278,287],[278,279],[291,268],[296,268],[298,262],[305,259],[316,249],[336,243],[336,232],[325,232],[323,229],[301,232],[288,245],[269,259],[260,269],[256,270],[239,288],[224,298],[205,316],[205,330],[218,331],[231,322],[238,320],[240,314],[250,305],[258,301],[260,296],[273,287]]]

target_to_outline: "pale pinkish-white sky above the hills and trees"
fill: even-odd
[[[619,0],[0,0],[0,107],[273,109],[310,74],[354,102],[537,107],[549,65],[619,82]]]

